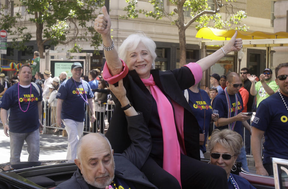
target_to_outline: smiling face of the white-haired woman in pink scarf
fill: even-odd
[[[136,70],[142,79],[148,79],[150,77],[153,60],[149,50],[142,42],[139,43],[134,51],[128,51],[126,57],[126,64],[129,70]]]

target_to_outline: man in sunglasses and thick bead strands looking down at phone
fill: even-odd
[[[242,87],[242,81],[239,74],[235,72],[229,73],[226,85],[227,87],[225,90],[218,94],[213,100],[213,113],[219,114],[218,122],[214,122],[214,124],[220,130],[229,128],[232,131],[236,131],[243,139],[242,123],[244,127],[250,131],[250,125],[246,121],[247,119],[250,119],[250,116],[246,116],[242,113],[243,101],[241,95],[238,93],[239,89]],[[240,161],[242,163],[242,168],[249,171],[244,146],[241,148],[241,153],[238,155],[236,161]]]

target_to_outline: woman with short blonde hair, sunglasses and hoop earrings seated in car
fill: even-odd
[[[226,171],[229,189],[255,189],[246,179],[230,173],[236,170],[235,162],[243,146],[240,134],[229,129],[215,129],[209,142],[210,161],[212,165],[222,167]]]

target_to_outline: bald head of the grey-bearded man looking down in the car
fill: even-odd
[[[109,186],[114,178],[113,150],[100,135],[82,140],[81,157],[75,159],[84,180],[97,188]],[[79,158],[79,157],[78,157]]]

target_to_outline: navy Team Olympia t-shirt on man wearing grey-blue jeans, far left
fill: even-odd
[[[9,87],[4,93],[0,101],[0,107],[5,110],[10,108],[9,131],[13,133],[30,133],[39,128],[38,102],[42,101],[42,89],[38,85],[37,87],[40,94],[34,85],[31,84],[30,95],[30,86],[24,88],[19,85],[19,101],[18,84]],[[19,102],[24,111],[27,110],[29,104],[27,112],[20,110]]]

